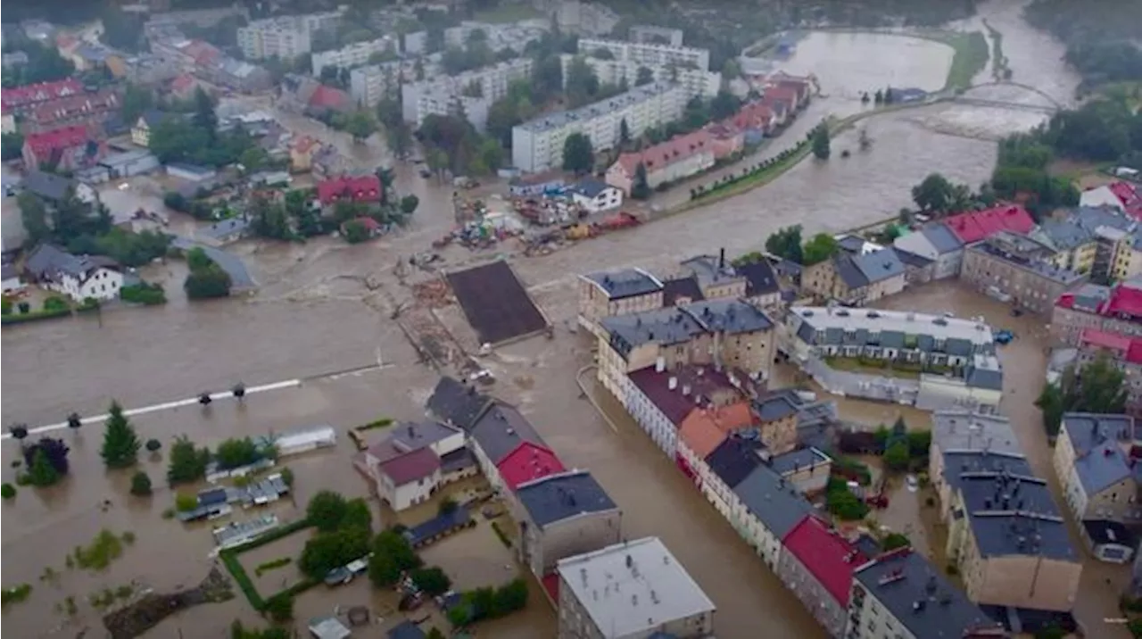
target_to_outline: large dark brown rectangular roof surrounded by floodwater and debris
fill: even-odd
[[[523,282],[502,259],[449,273],[448,283],[481,343],[499,344],[548,326]]]

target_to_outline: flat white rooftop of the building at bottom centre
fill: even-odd
[[[715,609],[658,537],[569,557],[556,570],[603,637],[626,637]]]

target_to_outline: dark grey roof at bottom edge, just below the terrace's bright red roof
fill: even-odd
[[[911,637],[959,639],[972,630],[997,628],[967,596],[948,583],[923,556],[901,550],[864,564],[855,584],[883,605]]]

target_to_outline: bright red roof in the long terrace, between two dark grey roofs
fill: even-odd
[[[853,572],[868,560],[867,557],[811,514],[789,530],[781,543],[841,608],[849,607]],[[798,590],[797,594],[805,593]]]

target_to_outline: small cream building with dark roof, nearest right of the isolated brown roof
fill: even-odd
[[[662,282],[642,269],[579,275],[579,325],[598,334],[603,318],[662,307]]]

